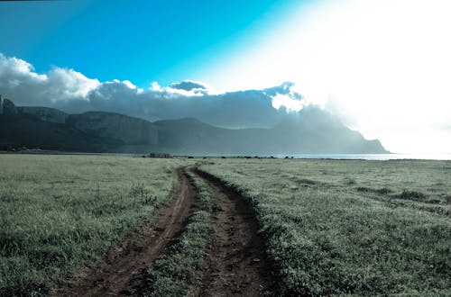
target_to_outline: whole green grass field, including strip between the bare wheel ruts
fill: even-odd
[[[198,163],[260,222],[277,295],[451,295],[451,161],[0,155],[0,295],[45,294],[175,196]],[[216,197],[142,278],[183,295],[198,279]],[[262,247],[263,248],[263,247]]]

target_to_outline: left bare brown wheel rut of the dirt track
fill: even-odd
[[[51,296],[128,295],[133,277],[152,264],[170,242],[177,240],[189,220],[195,190],[183,171],[178,170],[180,190],[177,200],[161,211],[156,220],[146,220],[133,235],[113,247],[93,268],[86,268],[67,287],[55,289]]]

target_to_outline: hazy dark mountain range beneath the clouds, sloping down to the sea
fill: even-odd
[[[225,129],[197,119],[145,121],[113,112],[67,114],[16,107],[0,96],[0,148],[183,155],[387,153],[327,112],[311,108],[269,129]]]

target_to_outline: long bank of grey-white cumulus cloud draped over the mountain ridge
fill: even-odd
[[[216,94],[196,81],[147,89],[128,80],[99,82],[67,68],[38,74],[20,58],[0,54],[0,94],[17,105],[54,107],[65,112],[120,112],[150,121],[197,118],[229,127],[269,127],[298,116],[306,105],[296,85],[284,83],[262,90]]]

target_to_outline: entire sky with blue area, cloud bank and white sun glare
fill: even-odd
[[[393,152],[451,153],[449,15],[447,0],[0,2],[0,94],[115,112],[177,97],[154,119],[236,127],[313,104]]]

